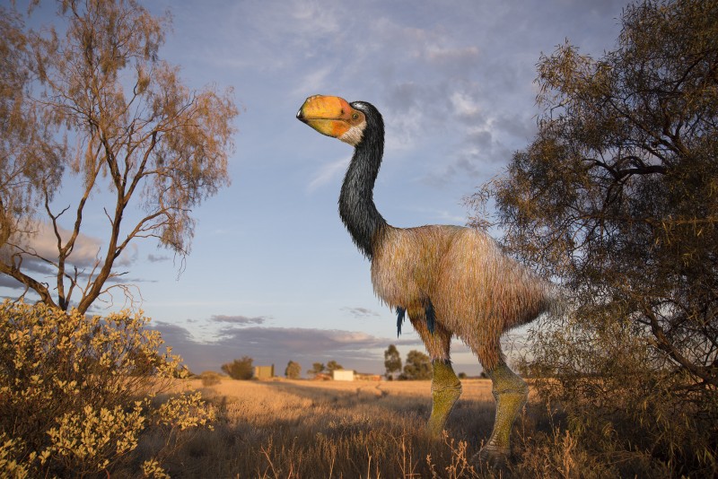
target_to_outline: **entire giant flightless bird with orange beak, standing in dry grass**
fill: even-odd
[[[339,214],[352,239],[372,261],[374,292],[406,313],[433,360],[429,430],[442,431],[460,396],[451,369],[451,336],[477,354],[494,382],[497,400],[487,458],[508,455],[509,433],[528,387],[503,361],[500,337],[551,309],[549,283],[531,274],[481,231],[449,225],[390,226],[374,205],[373,187],[384,145],[381,114],[371,104],[338,97],[308,98],[297,118],[355,147],[339,196]]]

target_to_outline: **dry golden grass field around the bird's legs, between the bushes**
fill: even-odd
[[[462,385],[464,394],[437,441],[425,434],[430,381],[222,379],[207,388],[201,379],[185,380],[177,383],[178,389],[198,389],[215,405],[215,430],[170,439],[161,430],[152,431],[144,436],[136,462],[158,457],[172,477],[677,476],[645,452],[621,452],[633,437],[604,438],[618,453],[607,455],[606,444],[597,445],[593,436],[569,428],[562,409],[539,400],[533,388],[512,434],[510,463],[491,469],[474,458],[494,423],[491,383],[473,379]],[[170,453],[161,456],[158,450]]]

